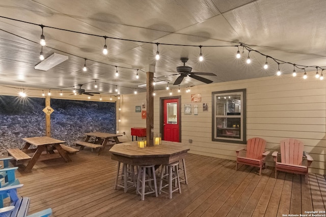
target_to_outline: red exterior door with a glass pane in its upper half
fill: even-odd
[[[164,105],[164,140],[179,142],[179,99],[168,99],[163,101]]]

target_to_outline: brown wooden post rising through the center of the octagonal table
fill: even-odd
[[[155,66],[149,65],[146,69],[146,143],[147,146],[154,146],[154,99],[153,99],[153,81]]]

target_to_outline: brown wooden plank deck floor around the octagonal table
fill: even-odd
[[[17,172],[24,186],[18,191],[31,198],[30,213],[51,207],[53,216],[285,216],[305,211],[325,211],[323,175],[304,177],[268,167],[259,176],[256,168],[235,162],[188,154],[189,183],[182,194],[158,198],[134,190],[114,190],[117,162],[106,150],[101,156],[90,149],[62,159],[37,162],[31,173]],[[283,215],[284,214],[284,215]]]

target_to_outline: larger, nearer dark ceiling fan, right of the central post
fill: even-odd
[[[187,75],[191,78],[194,78],[196,80],[199,80],[201,82],[204,82],[206,84],[212,83],[213,81],[200,77],[198,75],[210,75],[210,76],[216,76],[214,73],[209,72],[192,72],[191,67],[186,66],[185,63],[188,61],[188,57],[181,57],[180,60],[183,63],[183,66],[177,67],[177,72],[180,74],[180,76],[174,81],[173,85],[178,85],[182,82],[184,77],[187,77]]]

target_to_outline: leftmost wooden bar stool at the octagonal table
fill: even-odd
[[[116,177],[114,189],[120,187],[124,189],[124,193],[127,193],[129,188],[136,187],[134,166],[123,163],[120,171],[120,164],[121,163],[118,162],[117,177]],[[123,180],[120,183],[118,183],[119,177],[121,177],[121,179]]]

